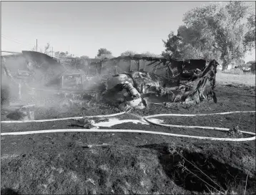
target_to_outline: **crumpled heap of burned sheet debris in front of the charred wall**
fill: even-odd
[[[169,103],[199,103],[212,98],[217,102],[214,92],[217,65],[212,60],[203,71],[193,73],[186,83],[172,88],[164,88],[161,83],[168,81],[152,73],[133,71],[114,75],[106,83],[102,100],[119,105],[122,110],[129,107],[143,109],[147,107],[152,96],[162,97],[162,100],[165,98]]]

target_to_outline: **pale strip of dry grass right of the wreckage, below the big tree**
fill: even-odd
[[[227,85],[248,85],[255,86],[255,75],[254,74],[241,74],[233,75],[229,73],[217,73],[216,75],[217,84]]]

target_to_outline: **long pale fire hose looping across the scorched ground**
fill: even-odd
[[[186,126],[186,125],[165,125],[159,124],[157,122],[152,122],[148,120],[152,117],[159,117],[159,116],[179,116],[179,117],[195,117],[195,116],[207,116],[207,115],[227,115],[232,113],[255,113],[255,111],[235,111],[235,112],[220,112],[220,113],[211,113],[211,114],[195,114],[195,115],[182,115],[182,114],[159,114],[159,115],[149,115],[146,117],[141,117],[139,115],[135,115],[140,117],[143,120],[146,120],[150,124],[159,125],[164,127],[180,127],[186,129],[203,129],[203,130],[219,130],[228,132],[230,129],[228,128],[220,128],[220,127],[201,127],[201,126]],[[119,112],[114,115],[96,115],[96,116],[88,116],[88,117],[112,117],[117,115],[123,115],[126,112]],[[130,114],[132,115],[132,114]],[[59,118],[59,119],[52,119],[52,120],[32,120],[32,121],[1,121],[1,123],[27,123],[27,122],[49,122],[49,121],[56,121],[56,120],[70,120],[70,119],[81,119],[85,117],[69,117],[69,118]],[[219,137],[200,137],[200,136],[192,136],[192,135],[178,135],[172,134],[167,132],[152,132],[152,131],[144,131],[144,130],[83,130],[83,129],[59,129],[59,130],[39,130],[39,131],[29,131],[29,132],[3,132],[1,136],[4,135],[31,135],[31,134],[41,134],[41,133],[51,133],[51,132],[131,132],[131,133],[145,133],[151,135],[165,135],[165,136],[172,136],[172,137],[187,137],[187,138],[194,138],[194,139],[205,139],[211,141],[231,141],[231,142],[245,142],[245,141],[252,141],[255,140],[255,133],[254,132],[245,132],[241,131],[245,135],[254,135],[254,137],[246,137],[246,138],[219,138]]]

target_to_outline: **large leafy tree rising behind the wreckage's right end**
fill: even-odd
[[[177,35],[164,41],[163,56],[219,60],[223,69],[255,47],[255,14],[243,1],[197,7],[184,14]]]

